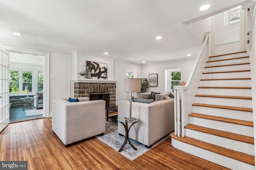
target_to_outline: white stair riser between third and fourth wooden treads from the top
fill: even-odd
[[[248,70],[248,69],[250,69],[250,64],[242,64],[242,65],[235,65],[235,66],[205,68],[205,72],[236,71],[236,70]]]

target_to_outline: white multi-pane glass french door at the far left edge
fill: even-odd
[[[9,109],[9,51],[0,45],[0,132],[8,125]]]

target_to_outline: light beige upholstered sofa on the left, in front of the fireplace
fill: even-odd
[[[104,100],[78,98],[80,102],[68,99],[52,101],[52,130],[65,147],[83,139],[105,133]]]

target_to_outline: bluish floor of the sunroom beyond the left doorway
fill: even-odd
[[[22,110],[22,106],[10,108],[10,122],[24,121],[24,120],[36,119],[40,117],[43,117],[43,115],[26,117],[26,112]]]

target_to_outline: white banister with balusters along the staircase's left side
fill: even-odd
[[[174,86],[174,134],[184,137],[184,126],[188,125],[188,115],[200,86],[200,79],[209,59],[209,33],[205,33],[203,45],[196,58],[185,86]],[[180,96],[181,94],[181,96]]]

